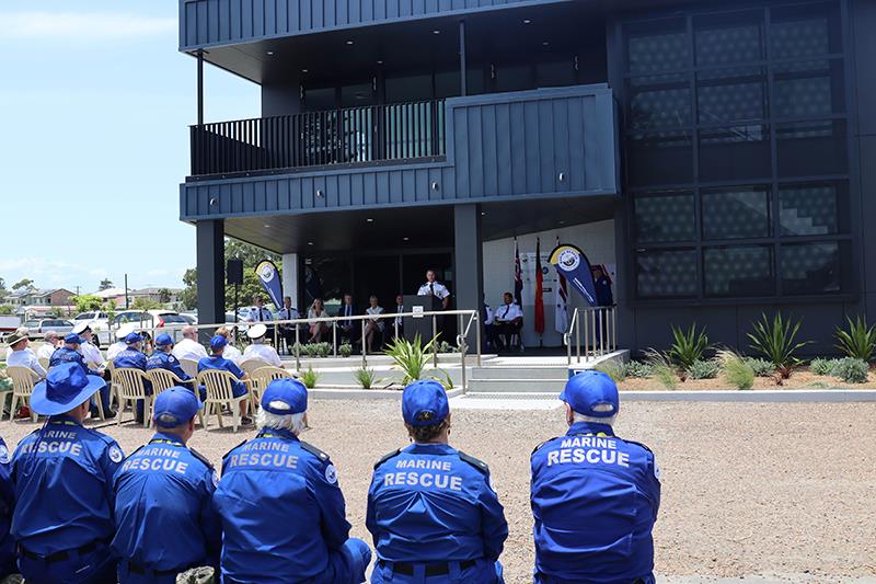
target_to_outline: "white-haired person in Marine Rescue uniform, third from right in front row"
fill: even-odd
[[[358,584],[371,550],[349,537],[344,495],[328,455],[298,439],[308,391],[272,381],[255,438],[222,459],[214,504],[222,519],[221,575],[235,584]]]

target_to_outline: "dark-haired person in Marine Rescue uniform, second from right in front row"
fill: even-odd
[[[402,415],[414,444],[374,465],[368,491],[366,526],[378,556],[372,584],[504,582],[505,512],[487,466],[448,444],[443,386],[408,385]]]

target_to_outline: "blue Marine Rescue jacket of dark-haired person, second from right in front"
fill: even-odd
[[[446,444],[412,444],[374,466],[366,526],[389,562],[495,561],[508,537],[489,469]]]

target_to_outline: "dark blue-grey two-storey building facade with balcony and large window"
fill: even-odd
[[[745,347],[782,310],[823,352],[876,311],[872,0],[180,8],[199,70],[262,88],[261,118],[205,123],[199,83],[181,218],[201,322],[223,313],[224,236],[283,254],[302,307],[391,306],[426,267],[456,307],[495,305],[512,238],[577,243],[612,270],[634,350],[694,321]]]

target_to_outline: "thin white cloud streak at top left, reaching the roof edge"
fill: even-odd
[[[176,19],[125,13],[0,12],[0,38],[104,41],[176,31]]]

